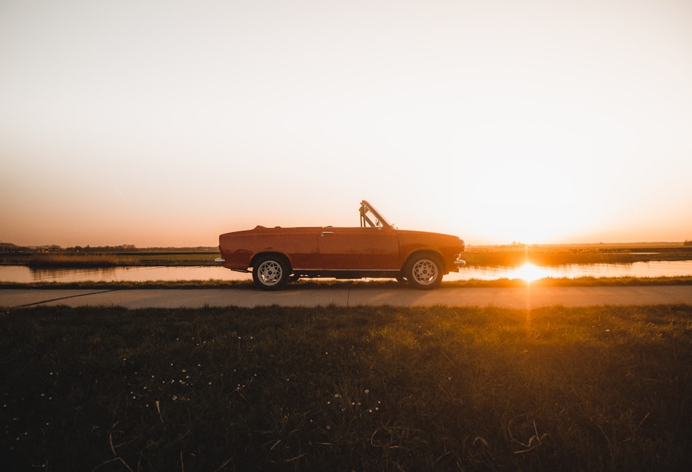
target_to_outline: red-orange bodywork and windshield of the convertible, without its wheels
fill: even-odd
[[[413,255],[439,259],[442,274],[456,270],[464,241],[448,234],[397,229],[366,200],[361,227],[257,226],[219,236],[224,267],[248,272],[258,257],[282,256],[295,276],[399,277]]]

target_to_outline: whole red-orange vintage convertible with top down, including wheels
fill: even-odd
[[[392,278],[430,289],[464,265],[457,236],[397,229],[365,200],[360,214],[360,227],[257,226],[221,234],[217,262],[252,272],[264,290],[300,277]]]

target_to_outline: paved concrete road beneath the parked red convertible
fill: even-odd
[[[202,290],[0,290],[0,307],[36,305],[122,306],[125,308],[203,308],[262,305],[357,306],[448,305],[540,308],[543,306],[692,304],[692,285],[644,287],[525,287],[439,288],[408,287],[297,288],[262,292],[253,288]]]

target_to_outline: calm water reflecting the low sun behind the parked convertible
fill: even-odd
[[[536,280],[545,277],[576,279],[578,277],[659,277],[692,276],[692,261],[649,261],[631,264],[570,264],[520,267],[463,267],[444,277],[455,280]],[[38,269],[23,265],[1,265],[0,282],[110,282],[110,281],[250,281],[251,274],[233,272],[220,266],[200,267],[109,267],[107,269]]]

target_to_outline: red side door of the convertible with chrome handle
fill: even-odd
[[[392,228],[325,227],[319,238],[326,270],[398,270],[399,237]]]

